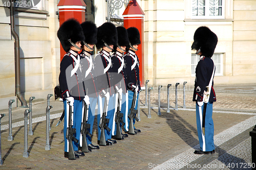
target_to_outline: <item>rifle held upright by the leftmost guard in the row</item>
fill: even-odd
[[[78,143],[78,140],[74,136],[76,133],[76,129],[72,127],[73,126],[72,125],[72,118],[73,118],[72,115],[73,115],[72,106],[70,105],[70,102],[69,102],[69,127],[67,128],[66,138],[69,141],[69,159],[75,160],[76,157],[75,157],[75,152],[74,152],[72,141],[74,140],[76,143]]]

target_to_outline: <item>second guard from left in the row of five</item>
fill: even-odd
[[[99,149],[98,145],[92,144],[92,133],[93,133],[93,123],[95,118],[95,107],[97,103],[97,91],[96,91],[96,82],[94,81],[94,66],[93,66],[93,55],[94,45],[97,43],[97,27],[95,23],[91,21],[84,21],[81,23],[82,31],[86,40],[82,41],[82,52],[80,56],[84,61],[84,88],[86,90],[87,96],[89,97],[89,108],[88,113],[86,114],[87,124],[89,124],[89,132],[86,134],[86,140],[88,144],[88,152],[94,149]],[[87,101],[88,102],[88,101]],[[86,102],[84,102],[86,104]],[[83,109],[84,111],[84,109]],[[86,110],[85,110],[86,111]],[[87,130],[87,129],[86,129]],[[82,135],[82,134],[81,134]],[[80,136],[81,137],[81,136]],[[81,143],[80,143],[80,147]]]

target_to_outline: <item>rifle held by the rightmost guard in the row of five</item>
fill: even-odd
[[[129,131],[127,132],[130,135],[134,135],[134,125],[133,125],[133,119],[135,118],[135,120],[138,122],[139,119],[136,117],[136,114],[138,112],[138,110],[135,110],[135,106],[136,106],[136,100],[137,100],[137,94],[138,94],[138,86],[135,87],[134,85],[132,85],[135,88],[134,94],[133,94],[133,102],[132,102],[132,107],[130,109],[130,114],[128,115],[128,117],[130,118],[130,124],[129,124]]]

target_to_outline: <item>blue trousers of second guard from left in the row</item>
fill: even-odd
[[[95,107],[97,103],[97,98],[90,98],[90,106],[89,106],[89,115],[87,123],[91,124],[90,126],[90,133],[93,134],[93,123],[95,118]],[[92,138],[86,135],[87,144],[92,144]]]

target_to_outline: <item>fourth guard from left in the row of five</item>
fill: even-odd
[[[114,118],[118,122],[116,122],[116,124],[113,126],[114,131],[112,135],[114,139],[122,140],[123,137],[128,137],[127,134],[122,134],[121,132],[117,132],[117,131],[121,130],[121,126],[123,123],[124,123],[124,126],[128,124],[128,102],[126,102],[126,98],[128,99],[128,93],[126,90],[127,76],[126,76],[126,66],[124,63],[123,55],[124,55],[126,46],[129,45],[129,38],[128,38],[127,30],[121,26],[117,27],[117,35],[118,35],[118,43],[117,43],[117,46],[114,46],[115,53],[111,57],[111,61],[113,65],[112,70],[114,72],[114,86],[117,92],[116,100],[115,100],[116,107],[115,107]],[[123,115],[123,116],[120,116],[120,115]],[[120,128],[117,126],[119,126]],[[118,135],[117,133],[120,133],[121,135]]]

